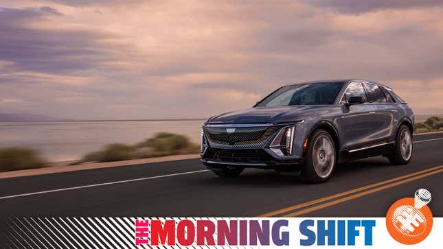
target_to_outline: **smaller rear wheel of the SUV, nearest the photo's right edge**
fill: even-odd
[[[409,135],[409,146],[411,146],[410,152],[408,150],[407,154],[402,153],[404,150],[407,150],[404,146],[407,141],[405,141],[402,137],[403,132],[406,132]],[[413,151],[413,143],[412,143],[412,135],[411,130],[405,125],[401,125],[398,128],[397,134],[396,134],[396,145],[394,149],[394,153],[389,154],[387,158],[389,159],[389,162],[393,165],[405,165],[408,164],[409,161],[411,161],[412,158],[412,151]]]

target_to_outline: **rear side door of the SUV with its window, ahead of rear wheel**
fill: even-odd
[[[386,142],[393,136],[395,131],[394,121],[397,115],[394,100],[389,93],[370,82],[363,83],[367,93],[368,101],[374,107],[373,126],[374,133],[370,137],[373,141]]]

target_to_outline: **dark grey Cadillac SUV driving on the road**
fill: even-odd
[[[409,163],[413,122],[411,108],[383,84],[288,84],[252,108],[205,121],[201,161],[218,176],[253,167],[325,182],[341,161],[386,156],[395,165]]]

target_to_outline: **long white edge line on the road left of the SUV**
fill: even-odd
[[[85,188],[89,188],[89,187],[99,187],[99,186],[106,186],[106,185],[115,185],[115,184],[120,184],[120,183],[125,183],[125,182],[136,182],[136,181],[139,181],[139,180],[150,180],[150,179],[166,178],[166,177],[169,177],[169,176],[181,176],[181,175],[195,174],[195,173],[200,173],[200,172],[205,172],[205,171],[209,171],[209,169],[202,169],[202,170],[196,170],[196,171],[188,171],[188,172],[176,173],[176,174],[168,174],[168,175],[163,175],[163,176],[150,176],[150,177],[144,177],[144,178],[135,178],[135,179],[130,179],[130,180],[118,180],[118,181],[115,181],[115,182],[104,182],[104,183],[98,183],[98,184],[92,184],[92,185],[83,185],[83,186],[78,186],[78,187],[69,187],[69,188],[64,188],[64,189],[52,189],[52,190],[38,191],[38,192],[32,192],[32,193],[21,193],[21,194],[18,194],[18,195],[1,196],[0,200],[9,199],[9,198],[16,198],[16,197],[21,197],[21,196],[27,196],[27,195],[39,195],[39,194],[42,194],[42,193],[53,193],[53,192],[67,191],[67,190],[73,190],[73,189],[85,189]]]

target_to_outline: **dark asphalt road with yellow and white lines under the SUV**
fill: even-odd
[[[424,187],[433,195],[433,215],[443,217],[443,167],[435,168],[443,165],[443,133],[414,141],[409,165],[389,165],[383,157],[353,161],[320,185],[260,169],[218,178],[198,159],[1,179],[0,215],[384,217],[389,205]]]

